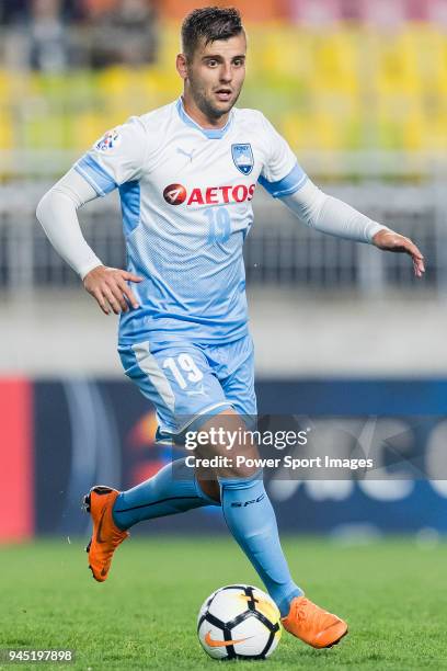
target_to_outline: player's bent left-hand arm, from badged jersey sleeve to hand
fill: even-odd
[[[78,220],[79,207],[104,196],[119,184],[138,179],[146,152],[146,135],[138,118],[108,132],[41,200],[36,215],[56,251],[83,281],[84,288],[108,315],[138,307],[128,282],[141,277],[107,268],[87,243]]]

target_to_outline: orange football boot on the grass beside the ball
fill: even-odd
[[[287,617],[282,617],[284,628],[313,648],[332,648],[347,634],[347,624],[305,596],[296,596]]]

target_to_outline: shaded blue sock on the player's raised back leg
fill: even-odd
[[[129,528],[142,520],[174,515],[203,505],[220,505],[198,485],[185,459],[161,468],[153,478],[122,491],[113,507],[113,519],[119,528]]]

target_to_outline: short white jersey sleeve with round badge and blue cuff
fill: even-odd
[[[107,130],[74,163],[77,170],[104,196],[121,184],[138,180],[145,164],[147,135],[142,122],[133,116],[125,124]]]

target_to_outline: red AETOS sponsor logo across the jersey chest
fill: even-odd
[[[163,198],[169,205],[221,205],[225,203],[243,203],[253,198],[256,184],[234,184],[234,186],[195,187],[191,193],[183,184],[169,184],[163,191]]]

